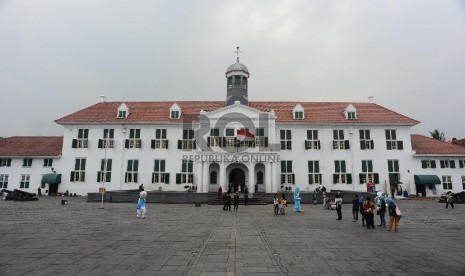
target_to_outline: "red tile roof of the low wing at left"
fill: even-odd
[[[62,136],[14,136],[0,139],[0,157],[60,156]]]

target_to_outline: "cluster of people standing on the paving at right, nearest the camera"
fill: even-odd
[[[388,231],[392,231],[394,225],[394,231],[399,229],[399,221],[402,217],[399,207],[394,203],[392,198],[387,198],[386,194],[382,193],[378,195],[373,201],[370,196],[355,195],[352,200],[352,216],[353,221],[358,221],[359,214],[362,218],[362,226],[367,229],[375,229],[375,214],[380,217],[380,224],[378,227],[386,228],[386,213],[389,214]],[[339,218],[339,217],[338,217]]]

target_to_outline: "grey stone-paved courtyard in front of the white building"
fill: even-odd
[[[465,205],[399,201],[400,231],[367,230],[320,205],[0,201],[0,275],[464,275]],[[379,223],[375,217],[375,223]]]

